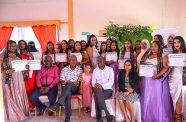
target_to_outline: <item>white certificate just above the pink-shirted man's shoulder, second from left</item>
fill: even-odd
[[[29,70],[40,70],[41,61],[40,60],[28,60]]]

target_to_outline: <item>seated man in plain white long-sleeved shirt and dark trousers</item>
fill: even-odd
[[[97,57],[98,67],[94,69],[92,75],[92,86],[94,87],[94,100],[96,108],[97,122],[103,122],[102,110],[105,111],[108,122],[112,122],[113,116],[107,110],[105,100],[112,96],[112,87],[114,84],[114,71],[111,67],[105,65],[105,58]]]

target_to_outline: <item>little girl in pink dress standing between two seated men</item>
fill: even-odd
[[[91,109],[92,101],[92,73],[90,64],[86,64],[84,68],[84,73],[81,79],[80,93],[83,96],[83,107],[85,112],[89,112]]]

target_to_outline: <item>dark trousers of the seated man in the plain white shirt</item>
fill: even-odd
[[[105,100],[109,99],[112,96],[112,90],[107,89],[98,89],[94,88],[94,100],[95,100],[95,108],[96,108],[96,119],[100,120],[102,118],[101,111],[104,110],[106,116],[109,116],[109,112],[107,110]]]

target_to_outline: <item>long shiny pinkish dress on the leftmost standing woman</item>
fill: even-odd
[[[9,58],[10,65],[12,60],[20,59]],[[27,119],[30,111],[22,72],[13,72],[11,83],[5,84],[5,70],[2,69],[2,81],[5,119],[11,122]]]

